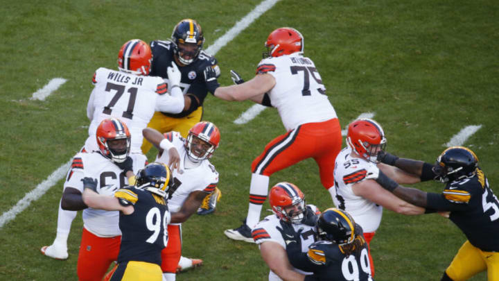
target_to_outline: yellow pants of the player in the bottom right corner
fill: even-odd
[[[446,269],[448,277],[454,281],[468,280],[482,271],[487,271],[489,281],[499,280],[499,253],[480,250],[468,240]]]

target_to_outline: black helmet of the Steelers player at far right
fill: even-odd
[[[475,175],[478,167],[478,157],[471,149],[463,146],[452,146],[437,157],[433,171],[435,180],[452,182]]]

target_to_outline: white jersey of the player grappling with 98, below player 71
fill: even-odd
[[[133,172],[137,173],[146,165],[147,158],[143,154],[130,154],[133,160]],[[116,164],[98,152],[77,153],[73,157],[71,169],[64,182],[64,188],[73,187],[83,193],[82,178],[96,178],[98,189],[106,185],[124,187],[128,185],[128,178]],[[83,225],[89,232],[98,237],[114,237],[121,235],[119,230],[119,212],[96,210],[88,207],[83,210]]]

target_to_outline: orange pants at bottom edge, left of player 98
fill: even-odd
[[[102,280],[112,261],[118,259],[120,242],[120,236],[98,237],[83,228],[76,270],[78,280]]]

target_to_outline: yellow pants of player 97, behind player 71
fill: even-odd
[[[158,130],[161,134],[175,130],[179,132],[182,137],[187,137],[187,134],[189,134],[189,130],[191,130],[191,128],[195,124],[198,124],[198,122],[201,121],[202,113],[202,106],[200,106],[197,110],[194,110],[194,112],[192,112],[191,114],[182,118],[168,117],[161,112],[155,112],[155,114],[152,115],[152,118],[149,121],[148,127]],[[142,153],[148,153],[151,147],[152,144],[146,139],[143,139],[141,146]]]

